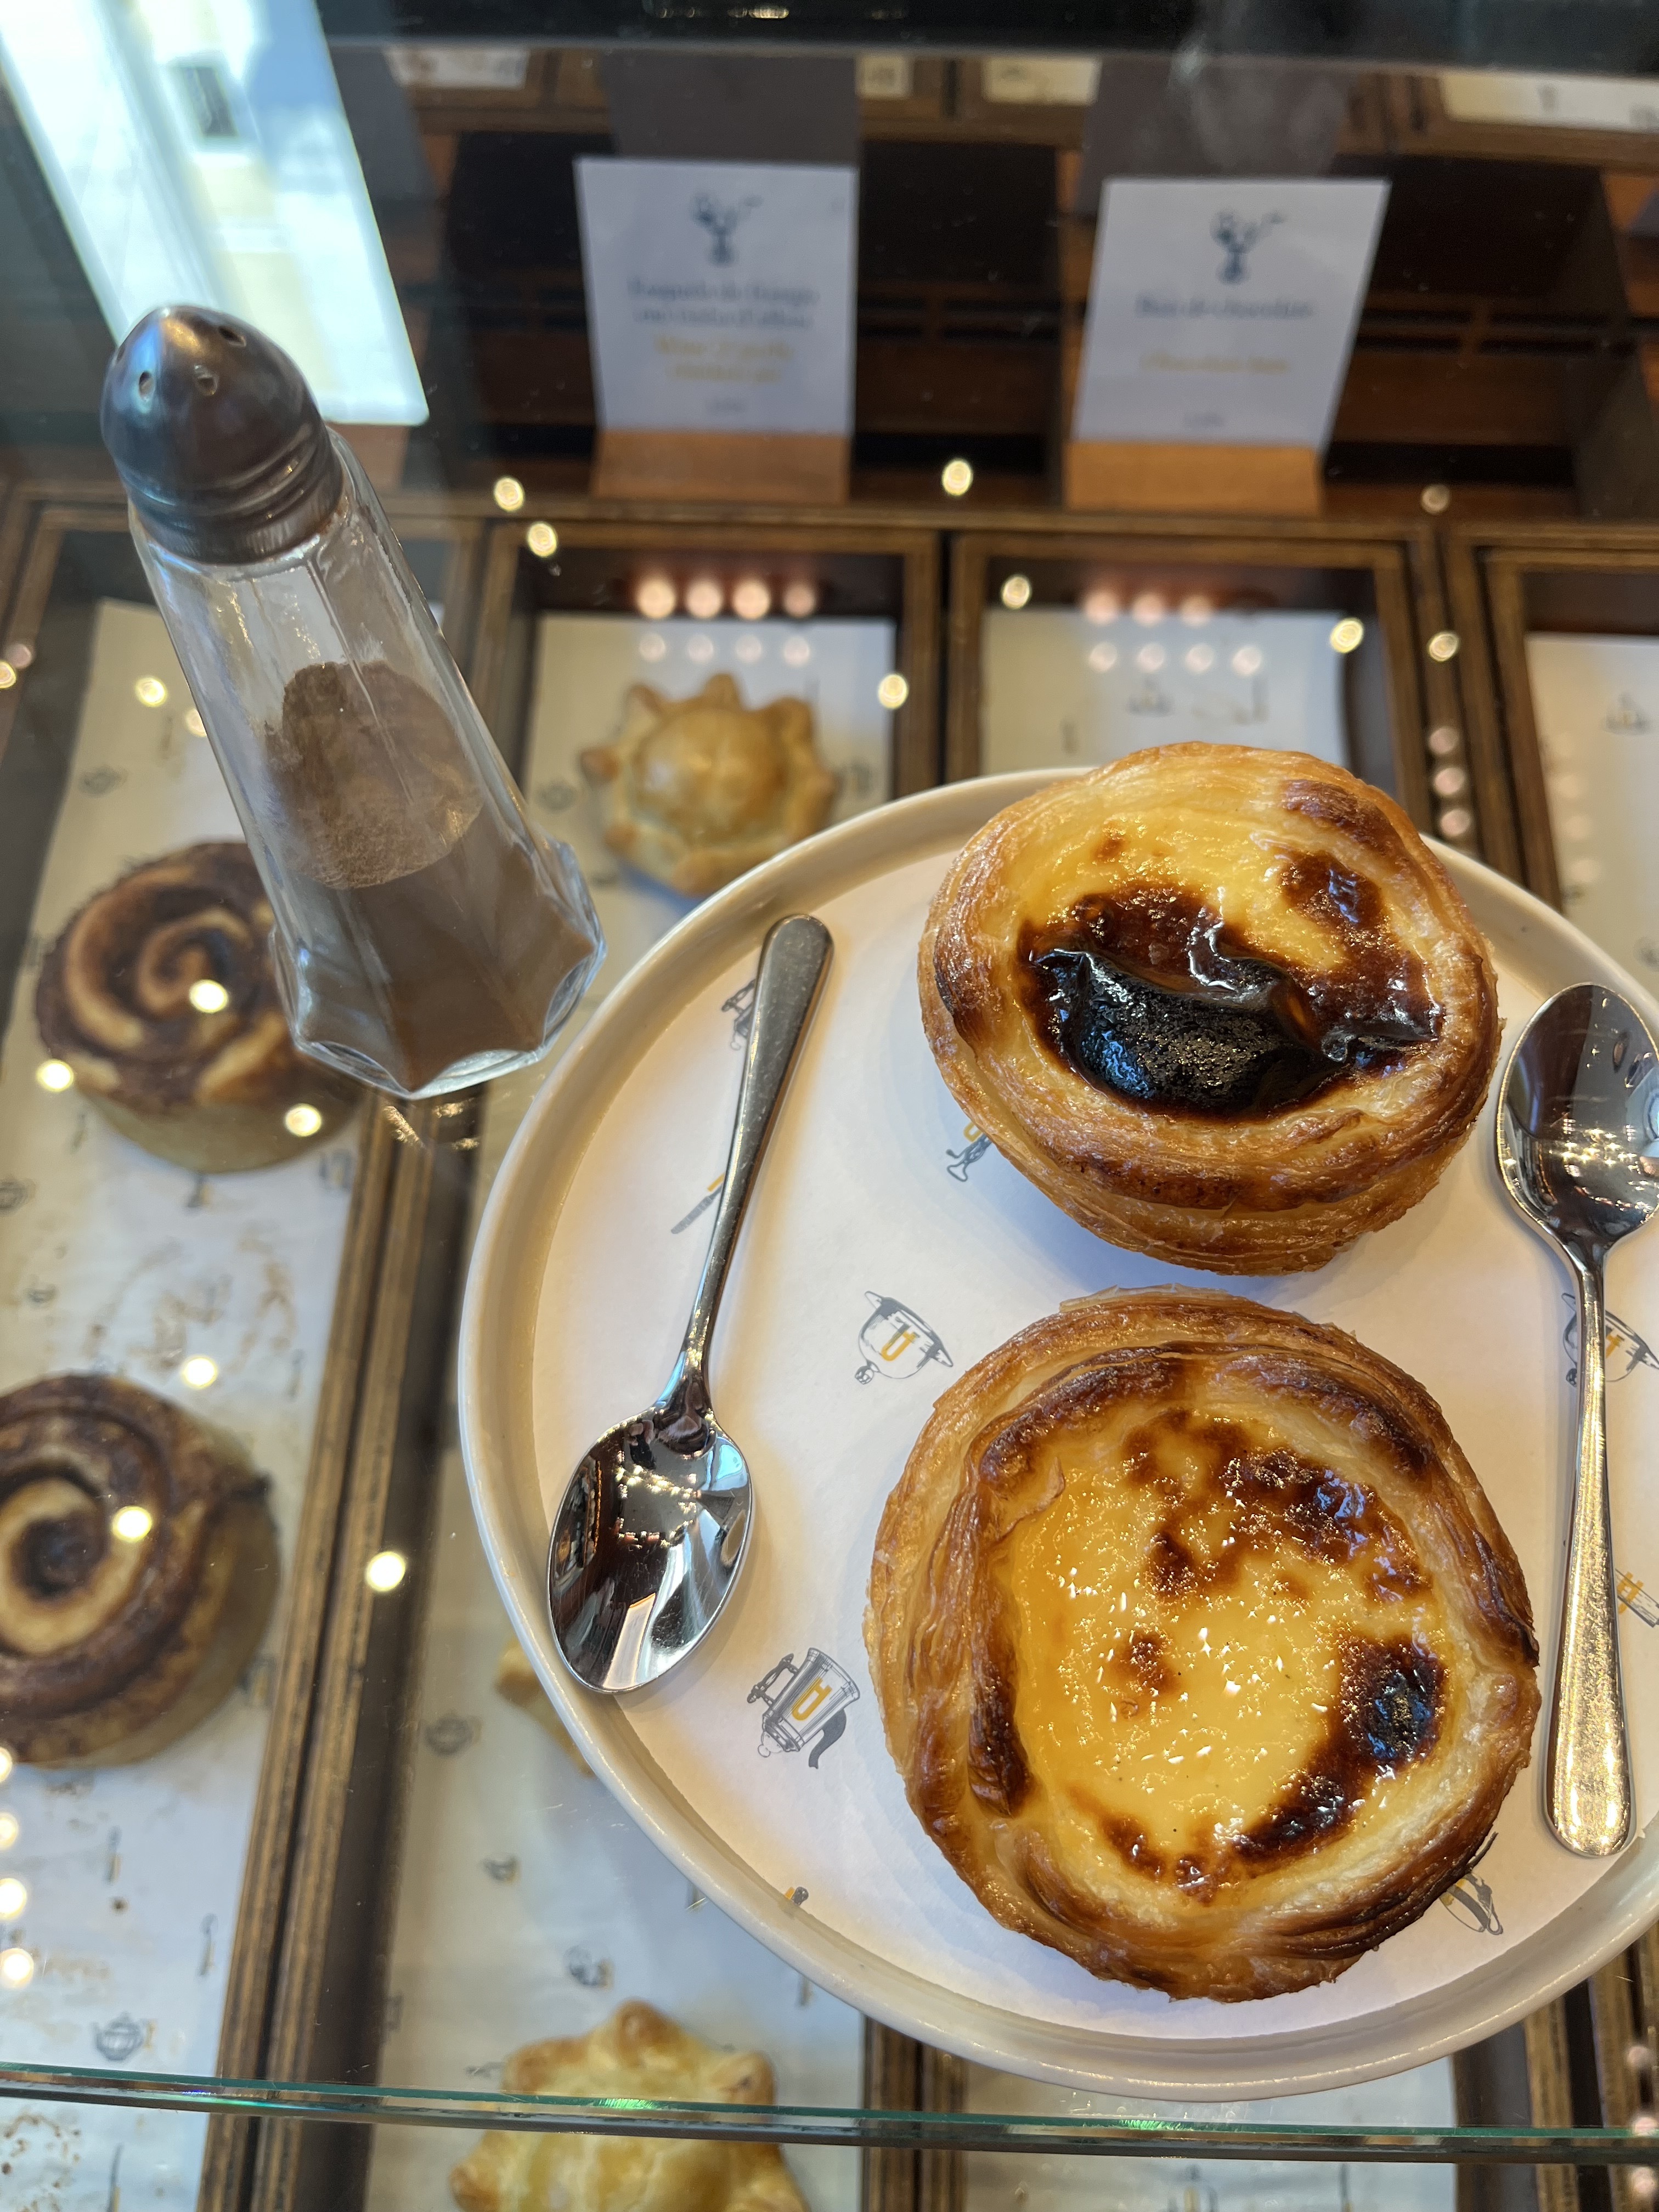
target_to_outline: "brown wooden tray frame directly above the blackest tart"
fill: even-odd
[[[945,776],[958,781],[980,772],[980,615],[987,608],[991,571],[1002,562],[1075,562],[1139,568],[1148,582],[1183,588],[1228,577],[1241,568],[1329,571],[1347,568],[1371,580],[1383,630],[1383,655],[1391,712],[1394,776],[1400,805],[1422,827],[1433,830],[1429,785],[1429,730],[1462,730],[1462,710],[1451,657],[1438,659],[1429,639],[1444,639],[1447,606],[1440,586],[1433,531],[1407,524],[1385,533],[1349,522],[1208,522],[1166,518],[1009,515],[995,526],[964,531],[951,555],[949,604],[949,719]],[[1444,650],[1444,648],[1442,648]],[[1438,765],[1462,761],[1458,748]],[[1475,830],[1467,841],[1482,849],[1484,816],[1475,807]]]

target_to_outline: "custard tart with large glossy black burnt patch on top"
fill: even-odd
[[[1161,745],[964,847],[922,933],[953,1097],[1075,1221],[1219,1274],[1323,1267],[1444,1170],[1498,1060],[1491,956],[1347,770]]]

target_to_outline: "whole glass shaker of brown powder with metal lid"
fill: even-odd
[[[403,1097],[535,1060],[604,956],[588,889],[305,378],[234,316],[159,307],[100,427],[276,916],[294,1042]]]

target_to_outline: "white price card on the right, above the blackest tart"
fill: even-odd
[[[1323,449],[1387,197],[1371,177],[1104,184],[1073,438]]]

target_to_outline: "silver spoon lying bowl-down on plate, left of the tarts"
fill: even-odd
[[[553,1635],[591,1690],[639,1690],[677,1666],[712,1628],[748,1557],[750,1471],[708,1402],[708,1338],[830,953],[830,931],[812,914],[765,933],[732,1152],[686,1343],[661,1398],[593,1444],[553,1517]]]

